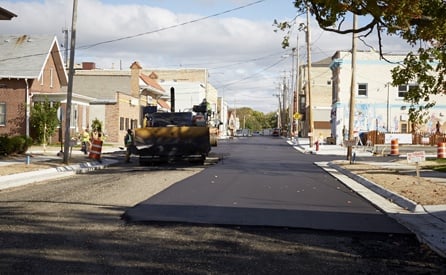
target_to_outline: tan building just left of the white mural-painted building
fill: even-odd
[[[301,136],[313,135],[314,137],[330,137],[330,112],[331,112],[331,89],[332,72],[329,68],[331,58],[325,58],[311,63],[311,104],[307,93],[308,88],[308,66],[299,66],[297,108],[300,119],[297,121],[297,129]],[[310,106],[313,119],[313,133],[310,133]]]

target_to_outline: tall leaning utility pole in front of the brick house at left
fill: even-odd
[[[71,22],[71,43],[70,43],[70,69],[68,74],[67,106],[65,111],[65,141],[63,162],[68,164],[68,153],[70,146],[70,125],[71,125],[71,101],[73,98],[73,76],[74,76],[74,49],[76,48],[76,20],[77,20],[77,0],[73,0],[73,18]]]

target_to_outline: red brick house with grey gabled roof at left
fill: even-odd
[[[60,53],[55,36],[0,35],[0,135],[29,136],[35,102],[60,102],[64,110],[68,77]],[[88,116],[90,100],[73,94],[73,128]]]

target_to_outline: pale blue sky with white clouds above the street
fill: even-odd
[[[71,30],[72,0],[0,0],[0,6],[17,15],[0,22],[2,35],[50,34],[63,44],[62,30]],[[290,48],[282,48],[286,33],[275,31],[274,20],[296,22]],[[207,69],[230,108],[275,112],[281,84],[292,86],[293,66],[306,63],[305,33],[297,28],[305,20],[292,0],[78,0],[75,62],[101,69],[128,69],[134,61],[143,68]],[[351,48],[351,35],[322,31],[314,21],[310,27],[312,62]],[[358,48],[377,45],[373,36]],[[291,50],[296,46],[298,57]],[[384,50],[406,48],[389,38]]]

